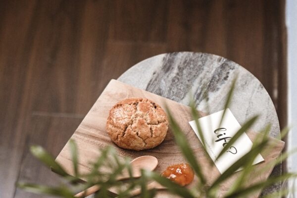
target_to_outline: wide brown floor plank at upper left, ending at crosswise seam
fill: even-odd
[[[84,1],[42,1],[30,62],[33,111],[76,113],[81,56],[89,55],[81,51],[85,6]]]

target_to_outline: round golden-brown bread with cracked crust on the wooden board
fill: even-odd
[[[110,109],[106,130],[117,146],[143,150],[163,142],[168,120],[164,110],[155,102],[130,98],[118,102]]]

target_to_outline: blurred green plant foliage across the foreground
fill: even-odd
[[[235,81],[233,82],[229,94],[227,96],[227,101],[225,103],[225,109],[229,107],[229,104],[232,100],[233,91],[235,89]],[[202,140],[203,133],[201,127],[199,126],[198,118],[199,114],[196,110],[195,102],[192,101],[191,112],[193,119],[196,121],[198,128],[198,133]],[[265,181],[261,181],[252,185],[245,185],[245,179],[248,177],[250,172],[253,171],[255,166],[252,166],[252,162],[258,153],[266,147],[268,147],[268,133],[270,131],[270,126],[268,125],[261,131],[261,133],[256,137],[256,140],[253,143],[251,150],[236,161],[231,167],[229,167],[223,174],[221,174],[211,185],[206,185],[206,179],[203,172],[201,171],[201,164],[198,163],[198,160],[195,157],[194,151],[190,147],[185,134],[182,132],[182,129],[178,126],[177,122],[172,116],[170,109],[166,108],[167,115],[170,121],[170,128],[174,134],[176,144],[181,150],[183,156],[192,166],[195,174],[198,177],[199,182],[192,189],[184,188],[179,186],[176,183],[171,182],[169,179],[160,176],[156,172],[142,170],[140,178],[133,178],[133,172],[130,165],[130,160],[128,158],[121,158],[117,155],[116,151],[112,147],[107,147],[100,150],[100,156],[95,160],[95,162],[90,164],[91,171],[88,174],[81,174],[78,170],[78,156],[77,156],[77,147],[74,141],[70,140],[70,150],[72,155],[73,162],[73,173],[74,176],[70,176],[66,173],[61,165],[55,162],[54,158],[42,147],[32,146],[31,153],[43,162],[46,166],[49,166],[53,171],[60,174],[69,185],[59,185],[58,187],[49,187],[36,184],[28,184],[18,182],[17,187],[32,193],[39,194],[48,194],[62,198],[74,198],[74,195],[77,192],[82,192],[94,185],[98,185],[100,190],[95,194],[95,198],[110,198],[115,197],[111,195],[108,191],[110,188],[116,188],[118,198],[130,198],[134,197],[131,192],[135,189],[141,189],[141,197],[143,198],[153,198],[156,194],[155,189],[148,189],[147,184],[150,181],[156,181],[162,186],[166,187],[167,190],[183,198],[217,198],[219,197],[219,186],[232,176],[232,174],[243,167],[240,176],[237,181],[233,183],[231,188],[228,190],[224,198],[245,198],[249,197],[255,191],[261,190],[272,184],[288,180],[289,178],[296,178],[297,174],[295,173],[284,173],[283,175],[277,177],[269,177]],[[225,113],[221,118],[220,124],[224,119]],[[252,117],[249,119],[243,127],[237,132],[237,134],[229,141],[229,143],[224,147],[218,157],[226,152],[226,149],[232,146],[232,144],[240,138],[240,136],[249,129],[257,120],[258,116]],[[282,136],[285,136],[288,133],[289,129],[286,128],[281,132]],[[264,134],[264,136],[262,135]],[[204,142],[202,142],[204,145]],[[270,145],[270,149],[273,149],[273,145]],[[272,165],[276,165],[283,160],[285,160],[292,152],[284,153],[277,160],[273,161]],[[214,163],[212,160],[208,160],[208,165],[213,166]],[[203,164],[205,166],[205,164]],[[125,181],[117,181],[117,178],[122,175],[124,171],[128,171],[130,178]],[[266,171],[263,169],[262,171]],[[87,182],[82,183],[78,178],[85,178]],[[123,188],[125,186],[125,188]],[[73,191],[75,189],[75,192]],[[287,195],[289,193],[288,189],[282,189],[280,192],[273,193],[267,197],[279,197],[280,194]],[[220,197],[221,198],[221,197]]]

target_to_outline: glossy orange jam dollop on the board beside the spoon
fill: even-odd
[[[162,176],[181,186],[185,186],[193,181],[194,171],[187,163],[174,164],[168,166],[162,173]]]

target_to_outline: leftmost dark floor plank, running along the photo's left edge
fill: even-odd
[[[3,7],[2,7],[3,6]],[[12,198],[24,146],[29,99],[26,75],[35,31],[36,2],[1,2],[0,22],[0,197]]]

